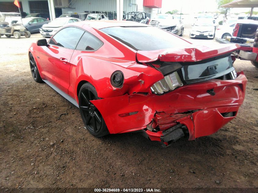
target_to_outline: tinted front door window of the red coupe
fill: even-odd
[[[64,48],[75,49],[83,33],[83,30],[76,27],[66,27],[57,32],[49,43]]]

